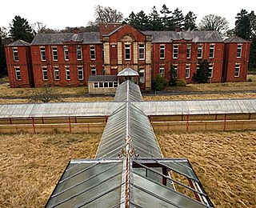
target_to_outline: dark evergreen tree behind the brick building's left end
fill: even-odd
[[[14,40],[21,39],[26,42],[32,42],[34,38],[34,30],[25,18],[15,16],[10,24],[10,34]]]

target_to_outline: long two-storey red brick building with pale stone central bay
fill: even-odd
[[[105,24],[99,32],[38,34],[6,46],[11,87],[84,86],[90,75],[117,75],[130,67],[142,89],[157,74],[192,82],[198,60],[210,61],[210,82],[246,81],[250,42],[223,41],[216,31],[138,31]],[[239,67],[238,67],[239,66]]]

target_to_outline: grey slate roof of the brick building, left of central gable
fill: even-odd
[[[65,42],[101,43],[98,32],[85,32],[78,34],[37,34],[31,45],[53,45]]]

